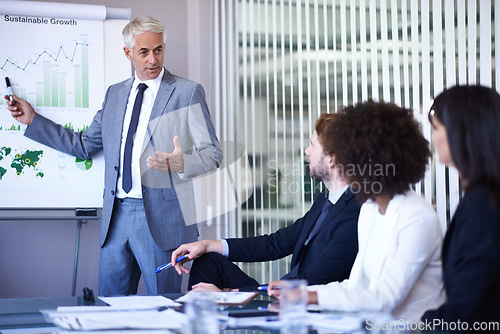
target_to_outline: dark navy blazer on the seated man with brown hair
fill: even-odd
[[[348,189],[330,209],[318,233],[304,242],[321,214],[327,196],[319,196],[304,217],[275,233],[259,237],[227,239],[229,260],[237,262],[271,261],[292,256],[291,268],[300,261],[299,270],[290,277],[306,279],[309,284],[325,284],[349,277],[358,252],[359,205]]]

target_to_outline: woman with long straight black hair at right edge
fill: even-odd
[[[488,87],[455,86],[435,98],[429,120],[439,160],[458,170],[465,193],[443,246],[448,299],[423,319],[460,320],[470,330],[474,322],[498,324],[500,95]]]

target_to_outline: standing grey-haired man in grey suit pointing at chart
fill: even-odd
[[[25,136],[88,159],[104,151],[99,295],[180,292],[173,270],[155,275],[179,245],[197,239],[191,180],[216,169],[222,151],[201,85],[163,67],[165,27],[140,17],[123,29],[135,76],[108,88],[85,132],[73,132],[14,97]],[[193,214],[194,213],[194,214]]]

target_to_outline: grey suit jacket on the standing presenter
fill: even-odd
[[[134,78],[108,88],[102,109],[85,132],[65,129],[37,114],[25,136],[61,152],[88,159],[104,151],[104,201],[101,246],[106,242],[120,170],[123,119]],[[184,173],[149,169],[145,159],[155,150],[172,152],[177,136]],[[141,156],[142,197],[149,229],[162,249],[197,239],[192,178],[219,167],[222,150],[200,84],[165,71],[151,112]]]

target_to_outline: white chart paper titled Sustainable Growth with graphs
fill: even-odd
[[[9,77],[37,113],[85,131],[105,91],[103,21],[0,12],[0,40],[1,91]],[[25,138],[25,128],[2,98],[0,207],[101,207],[102,154],[77,159]]]

